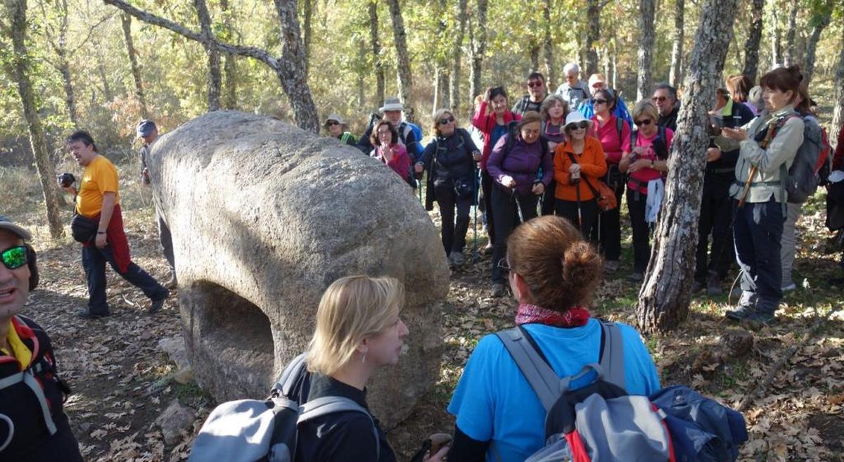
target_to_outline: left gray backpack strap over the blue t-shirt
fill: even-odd
[[[522,328],[501,330],[496,332],[495,336],[498,336],[507,352],[510,352],[510,356],[522,371],[527,383],[533,388],[545,411],[549,412],[562,391],[560,377],[542,357],[539,357],[536,349],[527,341],[526,333]]]

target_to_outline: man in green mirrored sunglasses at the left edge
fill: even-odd
[[[38,285],[35,250],[24,228],[0,216],[0,460],[82,462],[62,410],[70,394],[59,379],[50,337],[20,315]]]

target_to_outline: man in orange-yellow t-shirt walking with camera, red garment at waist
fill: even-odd
[[[97,147],[87,132],[73,132],[66,140],[68,150],[77,163],[84,167],[79,190],[66,188],[76,194],[76,212],[99,223],[93,242],[82,246],[82,265],[88,277],[88,308],[79,316],[99,318],[111,314],[106,302],[106,262],[117,274],[138,287],[152,301],[149,313],[164,306],[170,294],[156,282],[129,255],[129,243],[123,231],[117,169],[97,152]]]

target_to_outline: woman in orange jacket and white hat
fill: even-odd
[[[579,111],[565,117],[565,144],[554,149],[556,212],[589,235],[598,217],[598,179],[607,173],[607,160],[598,138],[587,135],[592,126]]]

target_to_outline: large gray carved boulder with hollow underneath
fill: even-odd
[[[269,117],[216,111],[154,144],[154,196],[173,234],[197,382],[217,400],[268,394],[306,349],[326,287],[397,277],[410,336],[367,400],[387,427],[437,377],[448,268],[436,228],[386,165]]]

